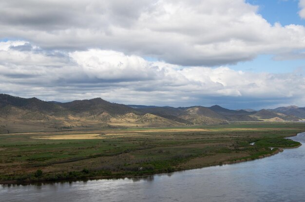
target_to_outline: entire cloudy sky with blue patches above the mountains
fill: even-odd
[[[0,0],[0,93],[305,106],[305,0]]]

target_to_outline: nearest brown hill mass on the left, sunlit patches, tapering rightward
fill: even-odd
[[[180,118],[176,116],[164,118],[101,98],[57,103],[0,94],[0,132],[167,127],[192,124],[179,120]]]

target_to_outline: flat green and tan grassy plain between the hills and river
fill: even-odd
[[[296,147],[304,123],[0,134],[0,183],[148,175],[261,158]],[[249,145],[251,142],[256,144]]]

